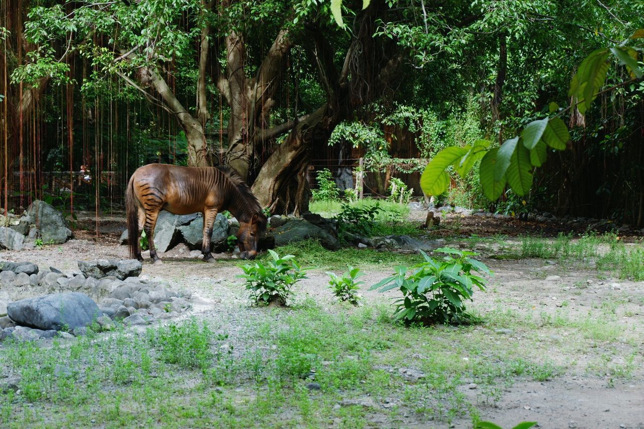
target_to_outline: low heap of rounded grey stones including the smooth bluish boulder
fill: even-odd
[[[147,325],[175,318],[190,306],[189,294],[139,277],[137,260],[79,261],[79,267],[81,271],[65,274],[51,267],[40,271],[30,262],[0,262],[0,339],[79,336],[88,329],[114,329],[116,321]],[[37,286],[58,292],[13,302],[7,292]]]

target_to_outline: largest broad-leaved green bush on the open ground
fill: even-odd
[[[472,300],[473,286],[485,290],[486,280],[471,274],[477,271],[491,275],[488,267],[470,256],[476,253],[457,251],[449,247],[436,250],[446,253],[442,261],[437,261],[422,253],[425,262],[415,265],[413,272],[403,265],[394,267],[394,275],[384,278],[370,288],[380,292],[399,288],[403,298],[397,300],[394,319],[404,323],[470,323],[474,316],[466,312],[464,300]]]

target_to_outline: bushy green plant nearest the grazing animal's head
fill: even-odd
[[[292,254],[279,256],[269,249],[271,259],[267,263],[256,262],[242,266],[247,290],[251,291],[251,301],[254,305],[268,305],[277,302],[286,305],[293,295],[292,287],[299,280],[307,278],[307,268],[302,268],[295,262]]]

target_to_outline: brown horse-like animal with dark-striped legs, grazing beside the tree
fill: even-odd
[[[214,260],[211,254],[214,218],[228,210],[240,223],[237,234],[242,258],[253,259],[257,243],[266,229],[267,218],[261,205],[243,179],[229,169],[220,167],[180,167],[169,164],[148,164],[139,167],[129,179],[126,191],[128,211],[129,253],[142,261],[138,245],[141,231],[146,231],[150,257],[156,255],[153,234],[161,209],[175,214],[201,212],[204,215],[204,261]]]

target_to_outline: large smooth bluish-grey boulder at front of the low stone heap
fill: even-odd
[[[99,306],[80,292],[27,298],[10,303],[6,309],[9,318],[18,325],[43,330],[75,329],[102,316]]]

